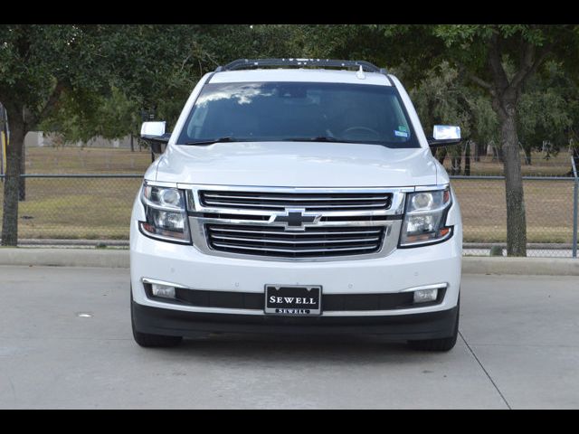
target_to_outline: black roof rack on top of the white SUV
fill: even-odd
[[[238,59],[227,63],[225,66],[218,66],[215,72],[250,70],[264,66],[318,66],[331,68],[356,68],[362,67],[366,72],[378,72],[386,74],[384,68],[378,68],[369,61],[336,61],[331,59]]]

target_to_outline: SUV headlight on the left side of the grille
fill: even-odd
[[[146,222],[138,222],[141,232],[157,240],[191,244],[182,190],[145,184],[141,202],[146,215]]]

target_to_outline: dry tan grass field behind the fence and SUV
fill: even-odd
[[[564,153],[562,153],[564,154]],[[561,156],[561,154],[560,154]],[[538,167],[539,158],[536,157]],[[552,175],[568,170],[560,160]],[[136,174],[150,164],[147,151],[125,149],[31,148],[28,173]],[[500,174],[498,163],[482,162]],[[543,169],[546,170],[546,166]],[[474,175],[474,170],[472,175]],[[492,171],[490,172],[492,173]],[[20,238],[128,239],[128,224],[140,179],[27,179],[20,203]],[[464,222],[464,241],[506,241],[505,187],[502,180],[453,180]],[[0,183],[0,193],[4,185]],[[571,242],[573,183],[526,181],[529,242]],[[2,203],[0,201],[0,216]]]

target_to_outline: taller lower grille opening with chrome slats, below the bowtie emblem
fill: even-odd
[[[323,258],[380,250],[384,226],[324,226],[298,232],[276,226],[205,224],[205,233],[213,250],[280,258]]]

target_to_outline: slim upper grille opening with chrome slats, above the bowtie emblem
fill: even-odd
[[[201,190],[199,199],[208,208],[284,211],[287,208],[321,211],[387,210],[392,193],[263,193]]]

